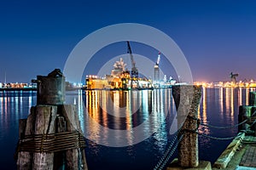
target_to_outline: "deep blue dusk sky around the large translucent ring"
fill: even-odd
[[[62,70],[81,39],[126,22],[154,26],[172,37],[188,59],[194,81],[228,81],[230,71],[239,73],[239,80],[256,79],[255,1],[68,2],[0,2],[0,82],[5,71],[8,82],[30,82]],[[143,54],[136,44],[133,48]],[[125,43],[119,50],[126,53]]]

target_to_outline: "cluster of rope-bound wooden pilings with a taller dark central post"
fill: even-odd
[[[37,105],[20,120],[17,169],[85,169],[84,138],[75,105],[65,105],[65,77],[38,76]]]

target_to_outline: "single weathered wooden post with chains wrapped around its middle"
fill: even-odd
[[[172,96],[177,109],[178,128],[178,163],[181,167],[197,167],[198,128],[197,111],[201,100],[201,86],[182,85],[172,87]]]

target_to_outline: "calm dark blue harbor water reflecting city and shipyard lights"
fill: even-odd
[[[238,107],[247,105],[250,90],[255,89],[203,88],[198,117],[206,124],[235,125]],[[173,137],[169,131],[176,111],[171,91],[68,92],[67,104],[78,105],[89,169],[153,169]],[[36,92],[0,92],[0,169],[15,169],[19,119],[28,116],[36,100]],[[138,127],[139,133],[133,130]],[[114,135],[117,131],[123,136]],[[237,128],[200,127],[200,132],[230,137]],[[199,143],[200,159],[214,162],[230,140],[199,136]]]

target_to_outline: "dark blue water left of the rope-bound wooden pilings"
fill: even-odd
[[[35,92],[0,92],[0,169],[15,169],[14,153],[19,137],[19,119],[36,104]]]

